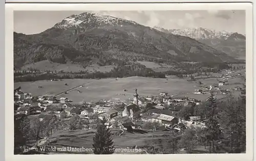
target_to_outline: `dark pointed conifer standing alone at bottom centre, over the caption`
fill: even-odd
[[[113,154],[114,142],[111,138],[111,131],[105,126],[106,119],[100,121],[97,127],[97,132],[93,138],[94,154]]]

